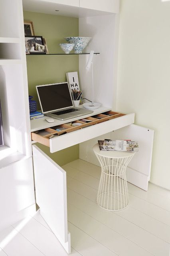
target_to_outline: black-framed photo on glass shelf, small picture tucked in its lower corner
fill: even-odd
[[[45,52],[42,36],[25,36],[26,54],[42,54]]]

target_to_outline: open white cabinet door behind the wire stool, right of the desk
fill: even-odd
[[[111,139],[138,141],[139,152],[136,152],[128,164],[127,181],[147,191],[152,163],[154,130],[131,124],[112,132]]]

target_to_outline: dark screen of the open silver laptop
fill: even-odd
[[[36,86],[43,113],[61,110],[73,106],[67,82]]]

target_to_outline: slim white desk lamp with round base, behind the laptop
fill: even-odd
[[[87,102],[87,103],[84,103],[83,104],[83,107],[84,108],[87,108],[87,109],[96,109],[96,108],[99,108],[101,106],[100,103],[97,103],[97,102],[93,102],[93,99],[94,99],[94,84],[93,84],[93,62],[92,62],[92,59],[93,59],[93,54],[94,54],[94,51],[91,51],[90,52],[90,55],[89,55],[89,59],[87,61],[87,66],[86,66],[86,69],[89,70],[90,67],[91,67],[91,75],[92,75],[92,102]]]

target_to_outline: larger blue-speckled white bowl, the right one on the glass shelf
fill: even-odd
[[[65,37],[64,39],[69,43],[75,44],[74,46],[75,53],[82,53],[82,50],[87,46],[91,38],[92,37],[74,36],[74,37]]]

